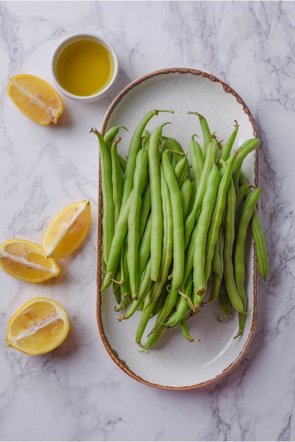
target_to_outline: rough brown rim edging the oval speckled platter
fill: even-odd
[[[203,78],[207,78],[210,81],[218,82],[222,84],[222,88],[226,93],[230,93],[234,95],[236,100],[238,101],[241,106],[243,106],[244,112],[248,115],[249,121],[252,124],[253,127],[253,135],[258,138],[257,133],[257,127],[254,122],[253,116],[249,110],[249,108],[246,106],[245,102],[241,99],[240,95],[237,94],[234,89],[232,89],[228,84],[226,84],[224,81],[220,80],[216,76],[213,76],[211,74],[208,74],[207,72],[199,71],[196,69],[187,69],[187,68],[170,68],[170,69],[160,69],[154,72],[150,72],[146,75],[143,75],[139,77],[137,80],[132,81],[132,83],[128,84],[113,100],[110,107],[108,108],[101,125],[100,132],[104,134],[104,131],[107,126],[107,121],[111,116],[112,111],[114,110],[115,106],[119,103],[120,99],[128,93],[131,89],[133,89],[138,84],[142,83],[142,81],[145,81],[149,78],[152,78],[153,76],[162,75],[162,74],[169,74],[169,73],[180,73],[180,74],[192,74],[192,75],[201,75]],[[254,166],[254,174],[255,174],[255,186],[259,187],[259,150],[258,147],[255,151],[255,166]],[[248,339],[245,343],[245,346],[243,350],[240,352],[238,357],[235,359],[234,362],[232,362],[226,369],[222,371],[218,376],[209,379],[206,382],[201,382],[196,385],[188,385],[184,387],[173,387],[169,385],[158,385],[154,384],[152,382],[146,381],[145,379],[142,379],[142,377],[135,374],[130,368],[127,366],[126,362],[124,362],[122,359],[119,358],[118,353],[111,348],[110,344],[107,341],[107,337],[104,334],[103,331],[103,324],[101,321],[101,296],[100,296],[100,286],[101,286],[101,246],[102,246],[102,214],[101,214],[101,201],[102,201],[102,191],[101,191],[101,169],[100,169],[100,159],[99,159],[99,187],[98,187],[98,222],[97,222],[97,266],[96,266],[96,319],[97,319],[97,325],[100,332],[100,337],[103,342],[103,345],[105,349],[107,350],[107,353],[111,356],[112,360],[117,364],[117,366],[120,367],[121,370],[123,370],[126,374],[128,374],[130,377],[135,379],[138,382],[141,382],[142,384],[149,385],[150,387],[155,387],[158,389],[164,389],[164,390],[191,390],[196,389],[199,387],[204,387],[205,385],[211,384],[212,382],[218,381],[221,377],[226,375],[230,370],[232,370],[238,362],[241,360],[241,358],[244,356],[246,351],[248,350],[248,347],[253,339],[254,331],[256,328],[256,322],[257,322],[257,286],[258,286],[258,279],[257,279],[257,257],[256,257],[256,251],[255,251],[255,244],[253,244],[253,320],[252,325],[250,329],[250,333],[248,336]]]

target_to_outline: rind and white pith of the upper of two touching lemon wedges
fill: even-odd
[[[82,205],[82,203],[84,203],[84,206]],[[57,221],[57,219],[61,216],[61,213],[64,213],[66,210],[69,209],[69,207],[73,207],[76,205],[81,204],[81,210],[76,214],[76,216],[71,220],[71,224],[67,226],[67,229],[65,229],[65,231],[63,232],[63,234],[57,239],[56,243],[54,244],[54,247],[48,249],[46,247],[46,236],[48,235],[48,233],[50,232],[50,229],[52,227],[52,225],[54,225],[55,221]],[[89,228],[89,224],[90,224],[90,216],[89,219],[85,225],[85,229],[84,229],[84,233],[83,235],[80,237],[80,240],[75,244],[75,246],[70,249],[69,251],[67,251],[66,253],[63,253],[62,255],[56,255],[54,253],[54,249],[57,247],[57,244],[62,240],[62,238],[65,236],[66,232],[69,230],[70,226],[73,224],[73,222],[75,221],[75,219],[77,219],[77,217],[83,212],[83,210],[86,209],[86,207],[89,205],[89,210],[90,210],[90,201],[89,199],[85,199],[79,202],[73,202],[72,204],[69,204],[69,206],[66,206],[63,210],[61,210],[59,213],[57,213],[56,217],[54,217],[54,219],[50,222],[50,225],[47,227],[43,238],[42,238],[42,248],[45,252],[45,255],[47,256],[47,258],[50,259],[61,259],[61,258],[65,258],[66,256],[71,255],[75,250],[77,250],[77,248],[80,246],[80,244],[82,243],[82,241],[84,240],[87,232],[88,232],[88,228]]]

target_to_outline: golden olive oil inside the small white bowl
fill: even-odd
[[[114,74],[111,54],[100,43],[80,40],[69,44],[57,59],[55,75],[69,93],[94,95],[110,83]]]

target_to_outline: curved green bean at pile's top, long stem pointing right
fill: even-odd
[[[142,142],[142,132],[145,129],[147,123],[149,120],[154,116],[157,115],[159,112],[172,112],[171,110],[150,110],[141,120],[141,122],[138,124],[137,128],[135,129],[135,132],[131,138],[130,145],[129,145],[129,151],[128,151],[128,160],[126,164],[126,171],[123,181],[123,196],[122,196],[122,207],[125,207],[126,202],[129,198],[129,195],[133,188],[133,176],[135,171],[135,164],[136,164],[136,156],[138,154],[139,149],[141,148],[141,142]]]

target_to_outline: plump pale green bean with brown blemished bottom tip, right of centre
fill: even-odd
[[[207,179],[206,191],[203,198],[201,213],[197,222],[197,231],[194,245],[194,293],[201,296],[206,293],[207,279],[205,279],[206,261],[206,238],[207,231],[211,225],[211,216],[215,207],[216,195],[219,186],[219,171],[215,162]],[[217,227],[217,229],[219,226]],[[218,230],[217,230],[218,234]],[[212,259],[211,259],[212,260]],[[210,263],[211,264],[211,263]]]

